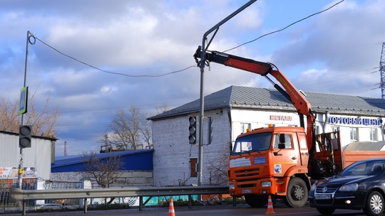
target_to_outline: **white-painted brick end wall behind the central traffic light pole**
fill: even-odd
[[[217,112],[219,114],[217,114]],[[198,158],[198,146],[188,141],[188,117],[198,116],[198,113],[162,119],[153,122],[154,145],[154,185],[185,185],[197,184],[197,177],[190,177],[190,158]],[[212,117],[212,144],[207,146],[207,121],[204,121],[204,135],[202,146],[203,173],[202,185],[210,184],[208,168],[218,166],[227,170],[227,158],[230,155],[230,125],[227,111],[220,114],[220,110],[205,112],[206,117]],[[199,122],[199,121],[198,121]],[[199,128],[199,124],[197,124]],[[205,173],[206,172],[206,173]]]

